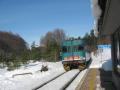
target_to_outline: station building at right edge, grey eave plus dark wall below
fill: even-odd
[[[113,81],[120,90],[120,0],[107,0],[100,36],[112,39]]]

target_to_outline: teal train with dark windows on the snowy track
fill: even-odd
[[[91,61],[91,55],[85,40],[68,39],[61,44],[61,60],[66,71],[71,69],[83,70]]]

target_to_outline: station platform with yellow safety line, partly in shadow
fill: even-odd
[[[112,82],[112,71],[90,68],[76,90],[116,90]]]

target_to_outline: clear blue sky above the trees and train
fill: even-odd
[[[39,44],[48,31],[63,29],[67,36],[84,36],[93,28],[90,0],[0,0],[0,30]]]

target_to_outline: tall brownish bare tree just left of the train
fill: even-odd
[[[62,29],[55,29],[53,32],[47,32],[47,34],[41,38],[41,45],[46,49],[47,54],[50,57],[54,57],[58,60],[60,53],[60,45],[65,40],[66,35]]]

